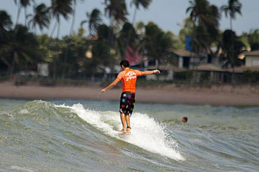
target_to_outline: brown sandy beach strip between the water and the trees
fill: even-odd
[[[100,93],[101,86],[15,86],[12,81],[0,83],[0,98],[25,99],[85,99],[119,101],[121,88]],[[250,86],[175,87],[173,84],[158,87],[137,87],[137,102],[154,102],[193,105],[259,105],[259,88]]]

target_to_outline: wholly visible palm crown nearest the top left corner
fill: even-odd
[[[36,25],[38,25],[42,31],[44,27],[48,28],[50,23],[48,8],[43,3],[34,8],[34,15],[30,14],[27,15],[27,17],[31,18],[28,24],[34,28],[34,36],[36,36]]]

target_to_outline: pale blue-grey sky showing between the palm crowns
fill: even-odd
[[[126,0],[127,9],[129,15],[128,20],[132,22],[134,6],[130,6],[132,0]],[[228,0],[208,0],[210,4],[217,5],[219,8],[222,5],[226,5]],[[51,0],[35,0],[35,3],[39,5],[40,3],[45,3],[50,6]],[[102,12],[102,18],[106,24],[108,24],[108,19],[104,15],[103,5],[104,0],[85,0],[83,3],[77,3],[76,6],[76,20],[74,31],[77,31],[82,20],[86,19],[86,12],[91,12],[94,8],[100,9]],[[242,32],[249,32],[250,29],[259,28],[259,0],[239,0],[242,3],[242,16],[238,15],[236,20],[233,22],[233,30],[237,34]],[[32,5],[33,6],[33,5]],[[27,14],[33,13],[33,7],[28,7]],[[137,12],[136,22],[143,21],[145,24],[149,21],[153,21],[159,27],[165,31],[171,31],[174,34],[178,34],[181,29],[178,23],[182,23],[183,19],[188,17],[186,14],[186,9],[190,6],[189,0],[153,0],[150,7],[147,10],[140,8]],[[16,21],[17,6],[14,0],[0,0],[0,10],[5,10],[11,15],[13,23]],[[43,33],[49,35],[51,29],[54,26],[54,19],[51,22],[49,29],[45,29]],[[72,22],[72,16],[69,20],[61,20],[60,36],[65,36],[69,34],[70,26]],[[24,24],[24,10],[21,11],[19,23]],[[225,18],[222,14],[222,19],[220,20],[220,29],[229,29],[229,19]],[[84,25],[87,29],[87,25]],[[37,30],[37,33],[40,33]],[[55,33],[54,33],[55,34]],[[87,34],[87,33],[86,33]]]

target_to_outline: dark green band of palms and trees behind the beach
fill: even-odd
[[[132,0],[134,15],[132,22],[127,19],[128,11],[125,0],[104,0],[102,13],[99,9],[86,12],[86,19],[74,32],[76,5],[84,0],[51,0],[51,6],[36,4],[33,0],[14,0],[17,5],[16,23],[10,15],[0,11],[0,72],[10,78],[15,72],[28,71],[31,66],[48,62],[51,77],[87,78],[98,75],[104,66],[113,67],[126,57],[128,47],[141,55],[161,59],[170,51],[184,48],[185,36],[193,37],[191,42],[195,53],[206,51],[212,56],[226,60],[232,67],[240,65],[237,58],[245,49],[258,49],[259,30],[251,30],[237,36],[232,30],[232,20],[241,14],[242,5],[238,0],[229,0],[227,5],[218,8],[207,0],[192,0],[186,13],[190,17],[180,26],[178,35],[163,31],[154,22],[137,22],[137,11],[148,9],[152,0]],[[27,14],[28,7],[33,14]],[[20,12],[24,10],[24,25],[17,24]],[[230,18],[230,29],[222,32],[219,21],[225,14]],[[105,24],[102,15],[108,18]],[[59,39],[61,20],[72,17],[69,35]],[[55,21],[49,35],[37,35],[49,29],[51,20]],[[84,27],[87,25],[87,36]],[[56,31],[56,36],[54,33]],[[212,47],[217,47],[216,51]],[[219,54],[219,55],[218,55]]]

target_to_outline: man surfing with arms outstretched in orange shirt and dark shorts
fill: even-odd
[[[136,81],[137,77],[142,75],[150,74],[160,74],[160,71],[138,71],[130,69],[130,63],[127,60],[122,60],[120,66],[123,71],[121,71],[117,78],[106,88],[102,89],[101,92],[105,92],[108,89],[115,87],[119,81],[122,80],[122,93],[120,97],[120,118],[122,122],[123,129],[119,132],[130,133],[130,116],[133,112],[135,105],[135,93],[136,93]],[[127,129],[125,125],[125,118],[127,123]]]

